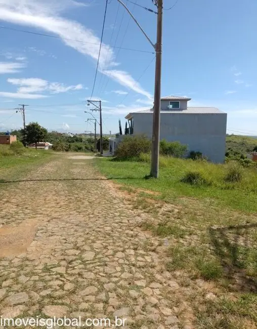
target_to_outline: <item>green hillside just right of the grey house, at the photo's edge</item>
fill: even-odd
[[[250,136],[227,135],[227,152],[247,154],[257,146],[257,139]]]

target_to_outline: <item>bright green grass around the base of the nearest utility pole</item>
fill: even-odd
[[[107,178],[130,187],[160,192],[152,196],[167,202],[178,197],[193,197],[206,200],[217,207],[245,212],[256,212],[257,169],[246,168],[240,182],[225,181],[229,164],[215,165],[205,161],[160,157],[159,179],[145,179],[149,174],[149,162],[111,161],[110,158],[96,159],[95,165]],[[211,184],[190,185],[181,182],[188,172],[199,172]]]

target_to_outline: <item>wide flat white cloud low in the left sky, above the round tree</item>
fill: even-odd
[[[80,90],[83,88],[81,84],[75,86],[65,86],[60,83],[49,83],[49,81],[40,78],[8,78],[7,81],[12,85],[20,86],[17,90],[17,94],[23,95],[44,91],[52,94],[59,94],[66,93],[69,90]],[[33,96],[27,98],[33,98]]]

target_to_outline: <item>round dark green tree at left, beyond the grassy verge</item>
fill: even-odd
[[[25,129],[21,130],[23,140],[26,144],[35,144],[37,149],[37,143],[44,141],[47,137],[47,129],[41,127],[37,122],[30,122]]]

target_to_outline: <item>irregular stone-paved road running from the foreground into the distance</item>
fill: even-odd
[[[1,192],[0,315],[116,315],[126,328],[192,328],[178,314],[179,285],[158,241],[89,161],[60,155]]]

